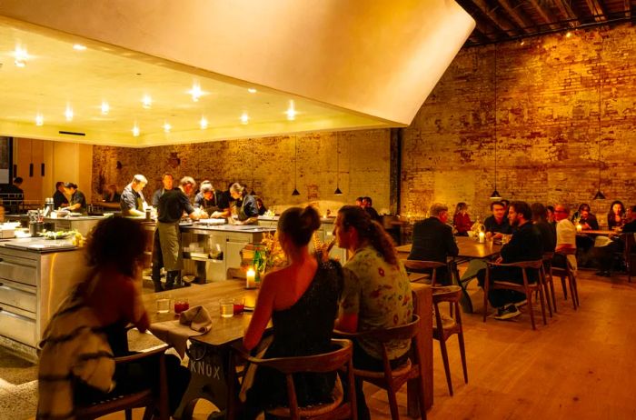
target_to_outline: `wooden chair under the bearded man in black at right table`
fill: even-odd
[[[496,289],[508,289],[508,290],[516,290],[517,292],[522,292],[526,295],[526,299],[528,299],[528,312],[530,313],[530,322],[532,324],[532,329],[535,330],[536,325],[534,325],[534,311],[532,309],[532,292],[539,293],[539,302],[541,303],[542,315],[543,315],[543,325],[547,325],[548,321],[545,318],[545,299],[543,296],[543,282],[541,279],[542,276],[542,260],[536,261],[520,261],[518,263],[511,264],[496,264],[487,262],[486,263],[486,281],[483,285],[483,322],[486,322],[486,315],[488,313],[488,293],[490,290]],[[519,285],[517,283],[506,282],[497,280],[490,282],[491,270],[493,266],[501,266],[501,267],[517,267],[522,270],[523,276],[523,284]],[[539,279],[535,283],[528,282],[528,269],[535,269],[539,272]]]

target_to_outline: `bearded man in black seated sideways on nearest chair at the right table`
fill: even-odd
[[[523,201],[513,201],[508,207],[508,219],[516,230],[512,239],[502,246],[502,255],[497,263],[511,264],[521,261],[537,261],[542,259],[541,237],[532,227],[532,210]],[[528,281],[536,282],[539,278],[537,270],[528,269]],[[486,270],[477,273],[479,285],[484,285]],[[523,284],[522,269],[518,267],[495,266],[491,270],[490,281],[505,280],[507,282]],[[526,296],[514,290],[489,290],[488,300],[497,308],[495,319],[509,319],[521,315],[517,305],[524,303]],[[516,304],[516,305],[515,305]]]

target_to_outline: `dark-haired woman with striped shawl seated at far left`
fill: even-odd
[[[101,221],[89,235],[85,253],[91,272],[57,309],[40,343],[38,418],[72,416],[76,403],[159,383],[158,358],[117,369],[113,363],[113,357],[130,354],[126,325],[142,333],[149,326],[140,293],[144,245],[142,225],[122,217]],[[190,373],[174,355],[165,363],[174,411]]]

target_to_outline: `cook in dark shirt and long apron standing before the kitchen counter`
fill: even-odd
[[[161,267],[165,266],[165,289],[172,289],[179,282],[179,275],[184,266],[182,257],[181,231],[179,221],[186,213],[191,219],[207,217],[204,211],[195,210],[190,204],[196,183],[190,176],[184,176],[179,187],[166,191],[159,198],[157,207],[157,228],[154,231],[153,248],[153,283],[154,291],[161,292]]]

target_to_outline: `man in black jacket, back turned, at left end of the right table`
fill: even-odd
[[[448,222],[448,207],[440,203],[431,206],[431,217],[413,226],[411,254],[408,259],[446,263],[446,258],[456,256],[460,250],[452,235]],[[429,271],[430,273],[430,271]],[[437,282],[451,284],[451,275],[446,266],[437,269]]]

